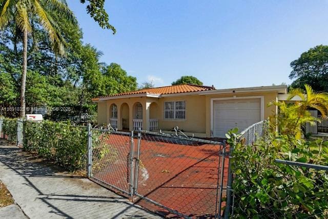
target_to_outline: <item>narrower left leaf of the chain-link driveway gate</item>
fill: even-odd
[[[125,196],[133,194],[133,134],[88,128],[88,177]]]

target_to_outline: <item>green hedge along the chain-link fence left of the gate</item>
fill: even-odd
[[[24,123],[25,150],[36,152],[70,171],[86,169],[87,139],[87,129],[70,123]]]

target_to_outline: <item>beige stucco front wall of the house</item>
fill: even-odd
[[[126,103],[129,106],[129,128],[132,130],[132,118],[134,117],[133,108],[135,103],[139,102],[143,109],[143,129],[148,129],[147,121],[149,118],[158,118],[159,129],[171,130],[175,126],[179,126],[180,130],[192,133],[202,133],[199,136],[211,136],[211,98],[222,97],[245,97],[245,96],[263,96],[264,103],[264,119],[276,112],[276,107],[267,107],[268,103],[275,101],[277,92],[249,92],[249,93],[231,93],[231,94],[212,94],[212,95],[181,95],[170,97],[131,97],[117,98],[106,102],[98,103],[98,124],[109,122],[110,106],[117,105],[117,117],[121,118],[121,105]],[[186,104],[186,120],[185,121],[166,121],[163,120],[163,102],[165,101],[185,101]],[[151,105],[156,103],[157,105]],[[156,111],[156,112],[154,112]],[[122,129],[122,121],[118,121],[118,129]]]

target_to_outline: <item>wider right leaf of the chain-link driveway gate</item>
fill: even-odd
[[[228,181],[225,147],[222,142],[139,131],[135,203],[165,216],[220,218]]]

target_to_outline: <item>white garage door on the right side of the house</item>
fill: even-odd
[[[228,130],[239,131],[261,121],[261,99],[229,99],[213,102],[213,134],[226,137]]]

